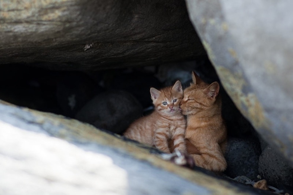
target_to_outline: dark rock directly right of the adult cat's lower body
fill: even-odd
[[[255,138],[229,138],[225,174],[231,178],[245,176],[257,180],[260,153],[260,143]]]

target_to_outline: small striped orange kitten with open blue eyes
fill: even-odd
[[[163,152],[186,151],[184,133],[186,121],[179,104],[183,98],[180,81],[161,90],[150,89],[155,107],[152,114],[134,121],[123,134],[125,137],[157,147]],[[168,142],[172,141],[170,151]]]

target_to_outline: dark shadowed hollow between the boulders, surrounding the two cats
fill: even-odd
[[[207,83],[219,78],[207,57],[156,66],[99,71],[56,71],[25,64],[1,66],[0,99],[90,123],[113,134],[152,111],[149,88],[183,88],[195,70]],[[228,168],[221,175],[245,183],[266,179],[292,193],[292,168],[258,135],[221,86],[222,114],[228,127]],[[156,151],[158,152],[158,151]],[[207,173],[207,171],[205,171]]]

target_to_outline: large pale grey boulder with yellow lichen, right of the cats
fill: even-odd
[[[224,88],[293,166],[293,1],[186,4]]]

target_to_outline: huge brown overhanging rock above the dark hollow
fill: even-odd
[[[4,0],[0,20],[0,64],[93,70],[205,54],[184,0]]]

